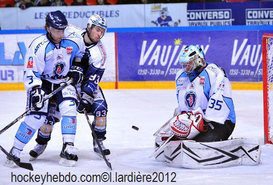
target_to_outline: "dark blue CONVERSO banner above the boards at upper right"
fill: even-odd
[[[189,3],[189,26],[273,25],[273,2]]]

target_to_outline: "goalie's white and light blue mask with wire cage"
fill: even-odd
[[[205,64],[205,54],[200,47],[187,46],[179,55],[179,63],[184,71],[189,74],[197,67],[202,67]]]

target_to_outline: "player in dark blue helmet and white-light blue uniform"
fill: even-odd
[[[77,161],[73,150],[77,98],[72,85],[81,82],[83,73],[80,68],[73,68],[71,65],[73,61],[81,61],[85,45],[82,36],[69,28],[65,15],[59,10],[47,14],[45,29],[47,33],[36,38],[25,55],[27,108],[34,106],[35,111],[28,114],[19,126],[10,154],[20,161],[19,155],[24,146],[48,116],[50,101],[43,103],[44,97],[60,87],[67,77],[71,77],[73,83],[59,91],[54,99],[62,115],[63,149],[60,162],[74,163]],[[13,167],[15,164],[8,159],[6,165]]]

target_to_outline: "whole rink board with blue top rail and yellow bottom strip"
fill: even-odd
[[[207,62],[225,69],[232,89],[262,89],[261,36],[272,32],[272,27],[109,29],[102,39],[107,67],[100,85],[104,89],[173,89],[181,69],[180,51],[196,44],[203,48]],[[23,56],[43,32],[0,31],[0,90],[24,90]]]

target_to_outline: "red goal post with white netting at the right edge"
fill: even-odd
[[[273,33],[264,33],[263,95],[264,95],[264,142],[273,143]]]

